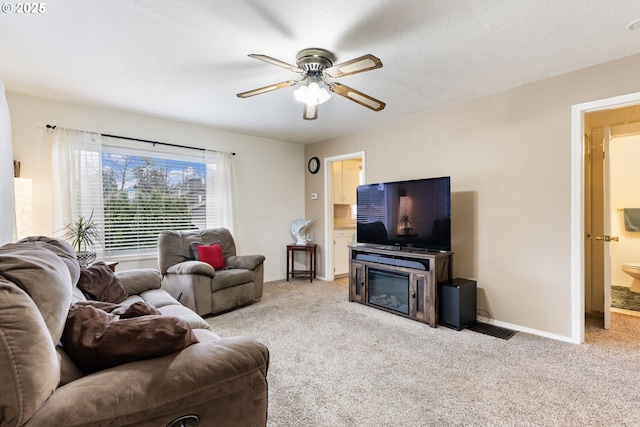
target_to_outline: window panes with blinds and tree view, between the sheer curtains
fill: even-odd
[[[102,193],[107,256],[154,253],[160,231],[206,226],[206,165],[201,162],[104,146]]]

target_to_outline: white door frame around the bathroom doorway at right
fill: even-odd
[[[571,341],[584,342],[585,150],[584,115],[640,104],[640,92],[571,106]]]

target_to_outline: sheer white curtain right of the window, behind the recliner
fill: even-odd
[[[207,228],[224,227],[233,234],[235,226],[235,180],[233,154],[219,151],[205,152],[207,164]]]

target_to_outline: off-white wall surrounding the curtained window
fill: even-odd
[[[33,233],[53,235],[51,150],[45,125],[152,141],[232,151],[238,190],[234,238],[240,254],[263,254],[265,280],[285,277],[290,223],[304,216],[304,147],[114,110],[53,102],[7,93],[13,155],[23,178],[33,180]],[[153,267],[157,259],[120,262],[118,269]]]

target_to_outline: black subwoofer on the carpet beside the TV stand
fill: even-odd
[[[475,280],[453,279],[438,283],[438,323],[461,330],[476,323]]]

